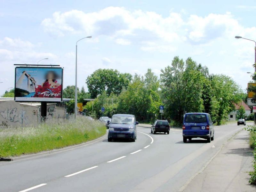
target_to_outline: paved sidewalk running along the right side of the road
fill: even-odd
[[[184,192],[255,192],[248,183],[252,167],[252,149],[248,144],[249,132],[235,135],[203,172],[183,190]]]

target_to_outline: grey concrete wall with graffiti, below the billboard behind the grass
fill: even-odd
[[[42,122],[40,106],[20,104],[14,100],[0,100],[0,129],[8,127],[20,127],[28,125],[37,125]],[[47,105],[47,119],[65,118],[65,107],[56,106],[56,104]]]

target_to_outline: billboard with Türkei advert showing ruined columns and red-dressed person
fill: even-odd
[[[16,67],[16,101],[62,101],[63,68]]]

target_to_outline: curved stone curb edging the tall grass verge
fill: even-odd
[[[42,152],[39,152],[39,153],[35,153],[35,154],[29,154],[29,155],[22,155],[22,156],[17,156],[17,157],[12,157],[12,158],[0,158],[0,161],[3,161],[1,159],[11,159],[11,160],[8,160],[8,161],[14,161],[14,160],[22,160],[22,159],[28,159],[28,158],[33,158],[33,157],[37,157],[37,156],[41,156],[41,155],[50,155],[50,154],[55,154],[55,153],[60,153],[60,152],[64,152],[64,151],[69,151],[69,150],[72,150],[72,149],[75,149],[75,148],[79,148],[79,147],[84,147],[86,145],[91,145],[99,140],[102,140],[104,139],[104,137],[106,137],[107,133],[105,133],[103,136],[95,139],[95,140],[91,140],[91,141],[88,141],[88,142],[85,142],[85,143],[80,143],[80,144],[77,144],[77,145],[72,145],[72,146],[67,146],[67,147],[64,147],[64,148],[60,148],[60,149],[53,149],[53,150],[50,150],[50,151],[42,151]]]

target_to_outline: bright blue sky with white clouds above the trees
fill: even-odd
[[[225,3],[224,3],[225,2]],[[144,75],[179,56],[211,74],[230,76],[243,91],[254,72],[256,1],[0,0],[0,95],[14,87],[13,64],[60,65],[63,87],[99,68]]]

